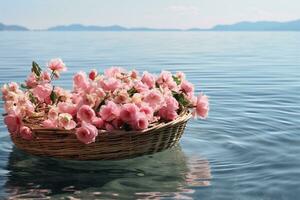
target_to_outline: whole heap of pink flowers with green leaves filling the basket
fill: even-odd
[[[143,130],[155,123],[176,119],[191,111],[206,118],[208,97],[194,94],[194,86],[185,74],[162,71],[125,71],[111,67],[104,73],[92,70],[73,77],[73,90],[52,85],[67,70],[61,59],[52,59],[42,70],[32,63],[31,73],[20,86],[11,82],[2,87],[4,123],[10,134],[31,140],[30,119],[40,118],[39,125],[53,129],[75,129],[77,138],[89,144],[98,130]]]

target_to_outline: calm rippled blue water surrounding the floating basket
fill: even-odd
[[[114,162],[24,154],[0,119],[0,199],[297,199],[300,195],[300,33],[0,32],[0,84],[33,59],[69,71],[120,65],[181,70],[210,96],[172,150]],[[1,102],[1,113],[2,102]]]

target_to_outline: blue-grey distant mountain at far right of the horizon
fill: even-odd
[[[217,25],[213,31],[300,31],[300,20],[289,22],[239,22],[232,25]]]

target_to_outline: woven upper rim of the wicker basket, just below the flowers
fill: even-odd
[[[188,121],[190,118],[192,117],[192,114],[189,110],[187,111],[183,111],[179,114],[179,116],[173,120],[173,121],[169,121],[169,122],[161,122],[159,124],[155,124],[147,129],[144,130],[133,130],[133,131],[125,131],[125,130],[114,130],[114,131],[107,131],[107,130],[99,130],[99,134],[101,135],[107,135],[107,134],[117,134],[117,135],[122,135],[122,134],[142,134],[142,133],[146,133],[146,132],[152,132],[158,129],[161,129],[163,127],[166,126],[172,126],[174,124],[177,124],[179,122],[183,122],[183,121]],[[36,124],[31,124],[31,123],[27,123],[26,124],[28,127],[31,128],[31,130],[33,132],[39,132],[39,131],[54,131],[56,133],[60,133],[60,134],[70,134],[70,133],[74,133],[75,129],[72,130],[65,130],[62,128],[44,128],[40,125],[36,125]]]

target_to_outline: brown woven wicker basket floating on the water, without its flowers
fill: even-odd
[[[163,151],[181,138],[191,114],[184,112],[168,123],[160,123],[143,131],[99,131],[96,142],[83,144],[74,130],[45,129],[30,124],[34,139],[11,135],[17,148],[38,156],[69,160],[118,160]]]

